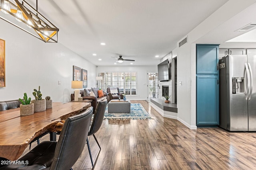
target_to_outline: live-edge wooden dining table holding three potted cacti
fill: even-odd
[[[20,116],[20,108],[0,111],[0,157],[17,160],[31,141],[59,131],[66,118],[86,110],[90,103],[53,102],[52,108]]]

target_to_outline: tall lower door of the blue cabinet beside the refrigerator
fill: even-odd
[[[196,76],[196,125],[219,125],[218,76]]]

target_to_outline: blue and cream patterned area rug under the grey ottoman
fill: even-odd
[[[130,113],[108,113],[108,106],[105,110],[104,120],[145,120],[152,119],[140,103],[131,103]]]

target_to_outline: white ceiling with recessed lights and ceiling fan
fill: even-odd
[[[140,66],[158,64],[180,39],[227,1],[41,0],[38,11],[60,29],[58,43],[93,64],[115,66],[116,59],[111,57],[122,55]],[[36,0],[27,2],[36,6]]]

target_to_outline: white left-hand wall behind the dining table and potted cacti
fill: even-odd
[[[24,92],[34,99],[33,89],[41,86],[43,98],[68,102],[74,92],[73,65],[88,70],[88,86],[95,86],[96,66],[60,43],[44,43],[4,20],[0,39],[6,41],[6,87],[0,88],[0,101],[23,98]]]

